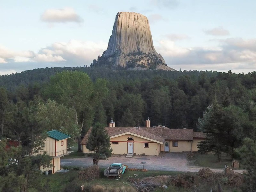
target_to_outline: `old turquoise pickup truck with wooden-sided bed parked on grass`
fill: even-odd
[[[127,167],[127,165],[123,165],[121,163],[113,163],[109,165],[107,169],[105,169],[104,175],[107,177],[120,178],[120,175],[125,173]]]

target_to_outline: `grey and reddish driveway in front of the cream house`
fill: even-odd
[[[60,165],[88,167],[93,165],[92,157],[60,159]],[[99,160],[99,166],[107,168],[112,163],[123,163],[129,168],[143,168],[141,162],[146,162],[144,168],[148,170],[160,171],[180,171],[198,172],[203,167],[187,166],[187,156],[185,153],[160,153],[159,156],[136,155],[126,158],[124,155],[112,155],[108,160]],[[214,172],[222,172],[222,169],[211,169]],[[234,170],[242,173],[244,170]]]

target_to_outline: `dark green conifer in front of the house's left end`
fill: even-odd
[[[98,166],[100,154],[108,158],[111,156],[112,148],[110,148],[110,138],[104,129],[104,125],[98,122],[91,129],[86,148],[94,153],[96,165]]]

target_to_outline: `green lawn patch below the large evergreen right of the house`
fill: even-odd
[[[217,156],[214,154],[202,155],[195,153],[193,158],[188,158],[190,166],[200,166],[200,167],[209,167],[209,168],[218,168],[223,169],[225,165],[230,166],[232,164],[232,158],[226,156],[225,154],[221,155],[221,162],[218,161]]]

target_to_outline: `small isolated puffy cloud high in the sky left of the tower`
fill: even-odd
[[[77,22],[81,23],[84,20],[76,14],[72,8],[64,9],[47,9],[42,15],[41,20],[45,22]]]

